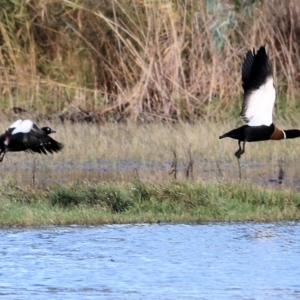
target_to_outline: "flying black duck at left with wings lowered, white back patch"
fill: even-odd
[[[0,136],[0,162],[6,152],[37,152],[47,154],[58,152],[63,144],[52,139],[49,134],[55,133],[50,127],[38,128],[31,120],[17,120]]]

